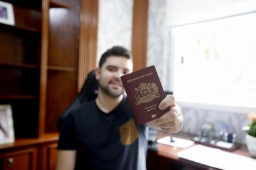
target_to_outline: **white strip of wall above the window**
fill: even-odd
[[[255,0],[167,0],[168,25],[177,26],[256,10]]]

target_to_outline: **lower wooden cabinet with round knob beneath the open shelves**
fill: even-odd
[[[0,145],[0,169],[55,169],[57,140],[58,135],[49,133],[37,139],[19,139]]]

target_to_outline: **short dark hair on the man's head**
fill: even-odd
[[[106,52],[102,54],[102,57],[100,57],[99,67],[101,68],[102,65],[106,62],[107,58],[111,55],[125,57],[127,59],[131,59],[131,53],[129,50],[122,46],[113,46],[112,48],[108,49]]]

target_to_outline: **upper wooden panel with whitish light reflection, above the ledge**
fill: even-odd
[[[71,8],[49,10],[48,65],[77,71],[79,55],[79,1]],[[67,3],[65,3],[67,4]]]

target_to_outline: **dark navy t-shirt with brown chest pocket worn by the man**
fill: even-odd
[[[106,114],[95,101],[70,113],[59,139],[60,150],[76,150],[75,169],[146,169],[148,128],[137,125],[127,99]]]

